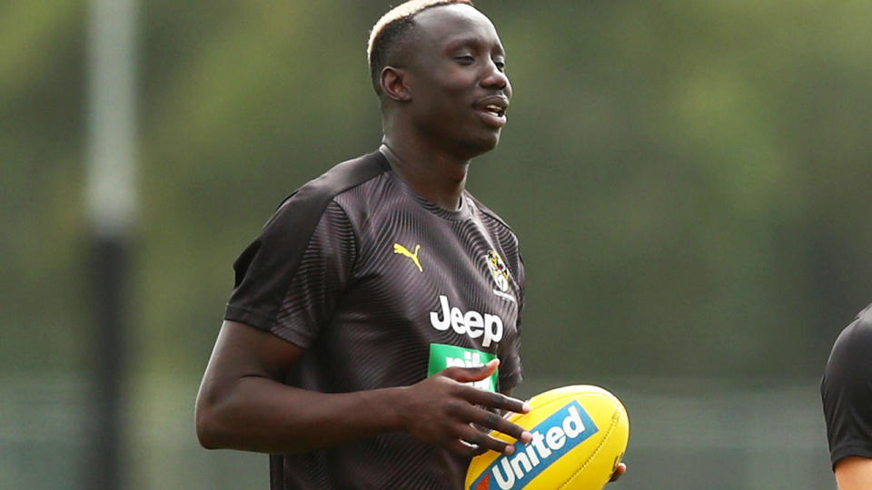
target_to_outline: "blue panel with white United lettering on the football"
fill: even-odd
[[[508,490],[523,488],[548,466],[593,436],[599,428],[579,402],[572,400],[538,426],[530,429],[533,439],[528,444],[515,443],[511,456],[500,456],[472,488]]]

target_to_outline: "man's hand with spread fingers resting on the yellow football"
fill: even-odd
[[[494,359],[479,368],[447,368],[403,388],[401,403],[396,407],[401,428],[423,442],[444,446],[459,456],[477,456],[489,449],[510,455],[514,446],[475,426],[528,443],[532,438],[530,432],[500,417],[497,410],[525,414],[530,406],[517,398],[465,384],[489,377],[499,365],[500,361]]]

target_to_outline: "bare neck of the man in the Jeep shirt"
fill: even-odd
[[[388,136],[381,142],[381,152],[394,173],[416,194],[446,210],[460,208],[469,160]]]

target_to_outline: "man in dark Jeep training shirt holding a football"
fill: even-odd
[[[272,488],[460,488],[472,456],[513,452],[486,431],[531,438],[498,415],[530,409],[510,397],[518,241],[464,189],[506,123],[500,38],[469,2],[415,0],[369,58],[381,148],[294,192],[236,260],[197,397],[203,446],[274,455]]]

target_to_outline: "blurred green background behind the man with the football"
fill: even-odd
[[[527,264],[516,393],[620,397],[615,488],[835,488],[818,383],[872,302],[872,3],[476,4],[515,92],[469,188]],[[197,445],[193,400],[233,260],[380,140],[389,3],[131,5],[0,3],[0,488],[95,487],[106,397],[115,487],[266,488],[266,456]],[[94,166],[94,33],[125,23],[135,167],[101,220],[94,175],[124,157]]]

